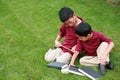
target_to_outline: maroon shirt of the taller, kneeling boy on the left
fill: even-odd
[[[82,18],[79,18],[79,19],[83,22]],[[75,46],[77,44],[78,38],[75,34],[75,27],[74,26],[70,27],[70,26],[65,26],[63,24],[60,28],[59,35],[61,37],[64,37],[64,41],[62,42],[63,46],[71,49],[73,46]],[[65,48],[61,47],[61,49],[63,50],[63,52],[70,52]],[[70,53],[73,54],[72,52],[70,52]]]

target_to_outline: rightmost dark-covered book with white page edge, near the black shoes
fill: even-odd
[[[90,67],[79,68],[78,70],[92,80],[97,80],[102,76],[99,72]]]

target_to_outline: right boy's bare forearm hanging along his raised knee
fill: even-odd
[[[110,53],[110,51],[112,50],[112,48],[114,47],[114,43],[113,42],[110,42],[108,44],[108,47],[106,49],[106,51],[103,53],[103,55],[100,57],[100,61],[101,61],[101,64],[105,64],[106,62],[106,59],[107,59],[107,56],[108,54]]]

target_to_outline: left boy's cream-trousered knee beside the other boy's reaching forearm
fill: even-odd
[[[62,55],[56,58],[56,62],[69,63],[72,55],[69,52],[62,53]]]

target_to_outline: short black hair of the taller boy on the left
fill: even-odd
[[[59,11],[60,21],[65,22],[66,20],[73,16],[73,13],[74,12],[71,8],[68,7],[61,8]]]

